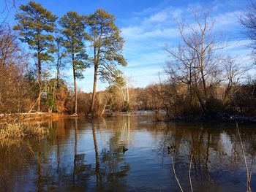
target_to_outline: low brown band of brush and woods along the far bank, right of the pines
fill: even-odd
[[[190,88],[173,81],[159,82],[146,88],[120,88],[110,86],[106,91],[97,93],[97,112],[127,112],[136,110],[164,110],[169,118],[189,119],[230,119],[255,117],[256,80],[245,80],[232,85],[227,95],[228,82],[208,87],[207,101],[203,107],[192,95]],[[127,100],[128,98],[128,100]],[[91,93],[78,91],[78,112],[89,112]],[[236,116],[238,115],[238,116]],[[240,115],[240,116],[239,116]]]

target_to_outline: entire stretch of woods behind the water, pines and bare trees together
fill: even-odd
[[[256,115],[255,64],[224,51],[227,42],[213,33],[211,12],[194,12],[193,25],[177,22],[181,41],[165,47],[167,61],[159,82],[133,88],[121,71],[125,39],[115,16],[104,9],[90,15],[67,12],[58,18],[34,1],[15,14],[17,24],[0,26],[0,113],[57,112],[102,116],[107,112],[165,110],[169,118],[226,118]],[[256,4],[237,22],[252,40],[255,56]],[[92,93],[77,86],[94,69]],[[64,77],[72,70],[73,86]],[[145,77],[146,78],[146,77]],[[97,80],[108,82],[97,91]]]

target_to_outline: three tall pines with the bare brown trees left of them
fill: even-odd
[[[117,65],[127,65],[116,18],[103,9],[90,15],[67,12],[58,18],[41,4],[29,1],[20,6],[15,20],[18,24],[13,30],[18,35],[1,23],[1,112],[28,112],[37,107],[38,112],[77,113],[77,80],[83,78],[86,68],[94,66],[90,104],[94,115],[97,79],[112,84],[123,76]],[[18,39],[28,45],[29,55]],[[31,58],[34,70],[29,67]],[[61,77],[63,69],[70,66],[72,91]]]

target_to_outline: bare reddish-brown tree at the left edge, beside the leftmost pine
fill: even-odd
[[[0,34],[0,112],[20,112],[31,103],[29,83],[24,77],[28,55],[9,27]]]

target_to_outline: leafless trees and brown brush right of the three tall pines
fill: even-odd
[[[249,11],[252,18],[256,11]],[[180,44],[166,47],[170,59],[162,81],[146,88],[111,85],[100,93],[104,111],[165,110],[169,117],[192,119],[255,117],[255,64],[227,54],[225,41],[214,36],[208,13],[194,16],[192,26],[178,23]],[[240,21],[246,27],[251,24],[248,37],[254,37],[256,28],[250,18],[245,14]]]

